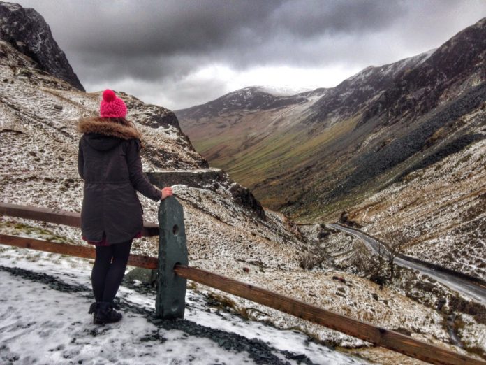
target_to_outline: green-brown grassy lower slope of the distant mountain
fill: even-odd
[[[351,133],[359,117],[360,115],[355,115],[319,132],[313,131],[319,127],[318,124],[307,126],[297,122],[293,127],[283,131],[271,130],[272,127],[262,128],[263,133],[266,131],[271,134],[245,149],[242,149],[242,146],[244,143],[249,143],[249,131],[255,130],[253,118],[240,120],[235,129],[229,127],[221,133],[213,134],[213,137],[201,140],[192,137],[191,141],[196,150],[209,160],[211,166],[223,169],[237,183],[249,187],[263,206],[279,209],[289,199],[300,200],[299,189],[309,191],[309,187],[314,187],[308,194],[315,194],[315,196],[307,196],[306,208],[295,210],[295,214],[291,212],[294,217],[302,215],[310,219],[334,213],[348,206],[348,201],[344,201],[342,205],[336,203],[330,208],[323,208],[318,201],[318,192],[333,188],[326,186],[326,183],[321,183],[321,178],[325,178],[323,174],[326,171],[321,174],[320,170],[314,170],[309,176],[301,176],[297,171],[313,163],[327,166],[326,161],[334,162],[332,156],[327,155],[326,149],[337,141],[337,138],[343,138]],[[242,129],[244,126],[251,128]],[[346,147],[348,146],[345,145],[344,148]],[[218,155],[212,158],[216,152]],[[262,184],[264,181],[265,183]],[[312,192],[314,189],[317,192]]]

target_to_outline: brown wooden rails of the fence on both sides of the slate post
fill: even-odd
[[[30,210],[34,213],[26,213],[25,210]],[[79,227],[79,222],[76,222],[75,220],[75,213],[64,211],[54,212],[52,210],[47,211],[46,209],[40,210],[39,208],[33,209],[31,207],[13,206],[13,204],[0,203],[0,213],[5,215],[44,220],[43,216],[41,215],[42,213],[40,212],[47,213],[47,219],[49,219],[48,222],[68,224],[72,225],[73,227]],[[77,219],[79,220],[79,214]],[[155,231],[155,227],[153,225],[149,227],[152,229],[151,232],[153,233]],[[57,252],[64,255],[77,257],[95,257],[94,248],[40,241],[33,238],[8,236],[5,234],[0,234],[0,244],[31,248],[34,250],[43,250],[47,252]],[[157,269],[159,267],[159,259],[156,259],[155,257],[130,255],[128,264],[146,269]],[[330,310],[325,310],[323,308],[304,303],[297,299],[290,298],[289,296],[277,294],[270,292],[267,289],[256,287],[255,285],[226,278],[223,275],[218,275],[209,271],[180,264],[175,264],[175,266],[173,266],[173,271],[181,278],[193,280],[201,283],[202,285],[207,285],[209,287],[222,290],[223,292],[255,301],[256,303],[263,304],[290,315],[295,315],[296,317],[304,320],[321,324],[330,329],[334,329],[344,334],[374,343],[375,345],[383,348],[401,352],[404,355],[415,357],[416,359],[420,359],[425,362],[430,362],[431,364],[486,365],[486,362],[481,359],[474,359],[439,346],[430,345],[429,343],[415,340],[414,338],[404,334],[383,329],[381,327],[377,327],[360,320],[355,320],[344,315],[339,315],[338,313],[333,313]]]

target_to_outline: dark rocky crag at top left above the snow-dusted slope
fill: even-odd
[[[42,15],[31,8],[0,1],[0,39],[30,57],[36,66],[84,91]]]

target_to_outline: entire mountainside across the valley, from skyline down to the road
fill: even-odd
[[[299,222],[350,209],[409,254],[485,278],[485,39],[483,19],[439,48],[293,96],[304,101],[179,120],[263,205]]]

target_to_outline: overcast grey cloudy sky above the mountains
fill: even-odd
[[[172,110],[250,85],[332,87],[486,17],[486,0],[12,2],[43,15],[88,92]]]

